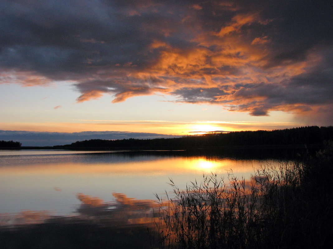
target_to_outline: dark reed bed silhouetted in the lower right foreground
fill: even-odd
[[[250,182],[212,173],[181,190],[170,179],[174,197],[157,195],[160,248],[325,247],[333,236],[332,151],[264,165]]]

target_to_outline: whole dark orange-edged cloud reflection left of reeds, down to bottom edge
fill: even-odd
[[[116,201],[78,193],[81,204],[72,216],[25,211],[0,214],[0,248],[152,248],[155,233],[151,200],[114,193]],[[15,223],[17,222],[17,223]]]

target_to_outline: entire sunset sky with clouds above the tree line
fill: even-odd
[[[332,125],[332,1],[2,0],[0,13],[0,140]]]

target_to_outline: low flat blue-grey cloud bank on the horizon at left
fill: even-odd
[[[22,146],[54,146],[71,144],[89,139],[153,139],[179,137],[157,133],[120,132],[120,131],[84,131],[84,132],[35,132],[35,131],[4,131],[0,130],[0,140],[19,141]]]

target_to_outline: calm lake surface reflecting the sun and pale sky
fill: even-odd
[[[172,191],[169,178],[185,188],[203,174],[249,179],[256,168],[275,161],[219,157],[145,155],[134,152],[0,150],[0,224],[38,223],[54,216],[97,217],[119,208],[154,206],[155,193]],[[131,210],[132,210],[131,209]],[[126,209],[128,210],[128,208]],[[133,210],[132,210],[133,211]],[[131,211],[131,215],[133,212]],[[125,223],[144,222],[125,217]],[[118,217],[118,216],[117,216]]]

